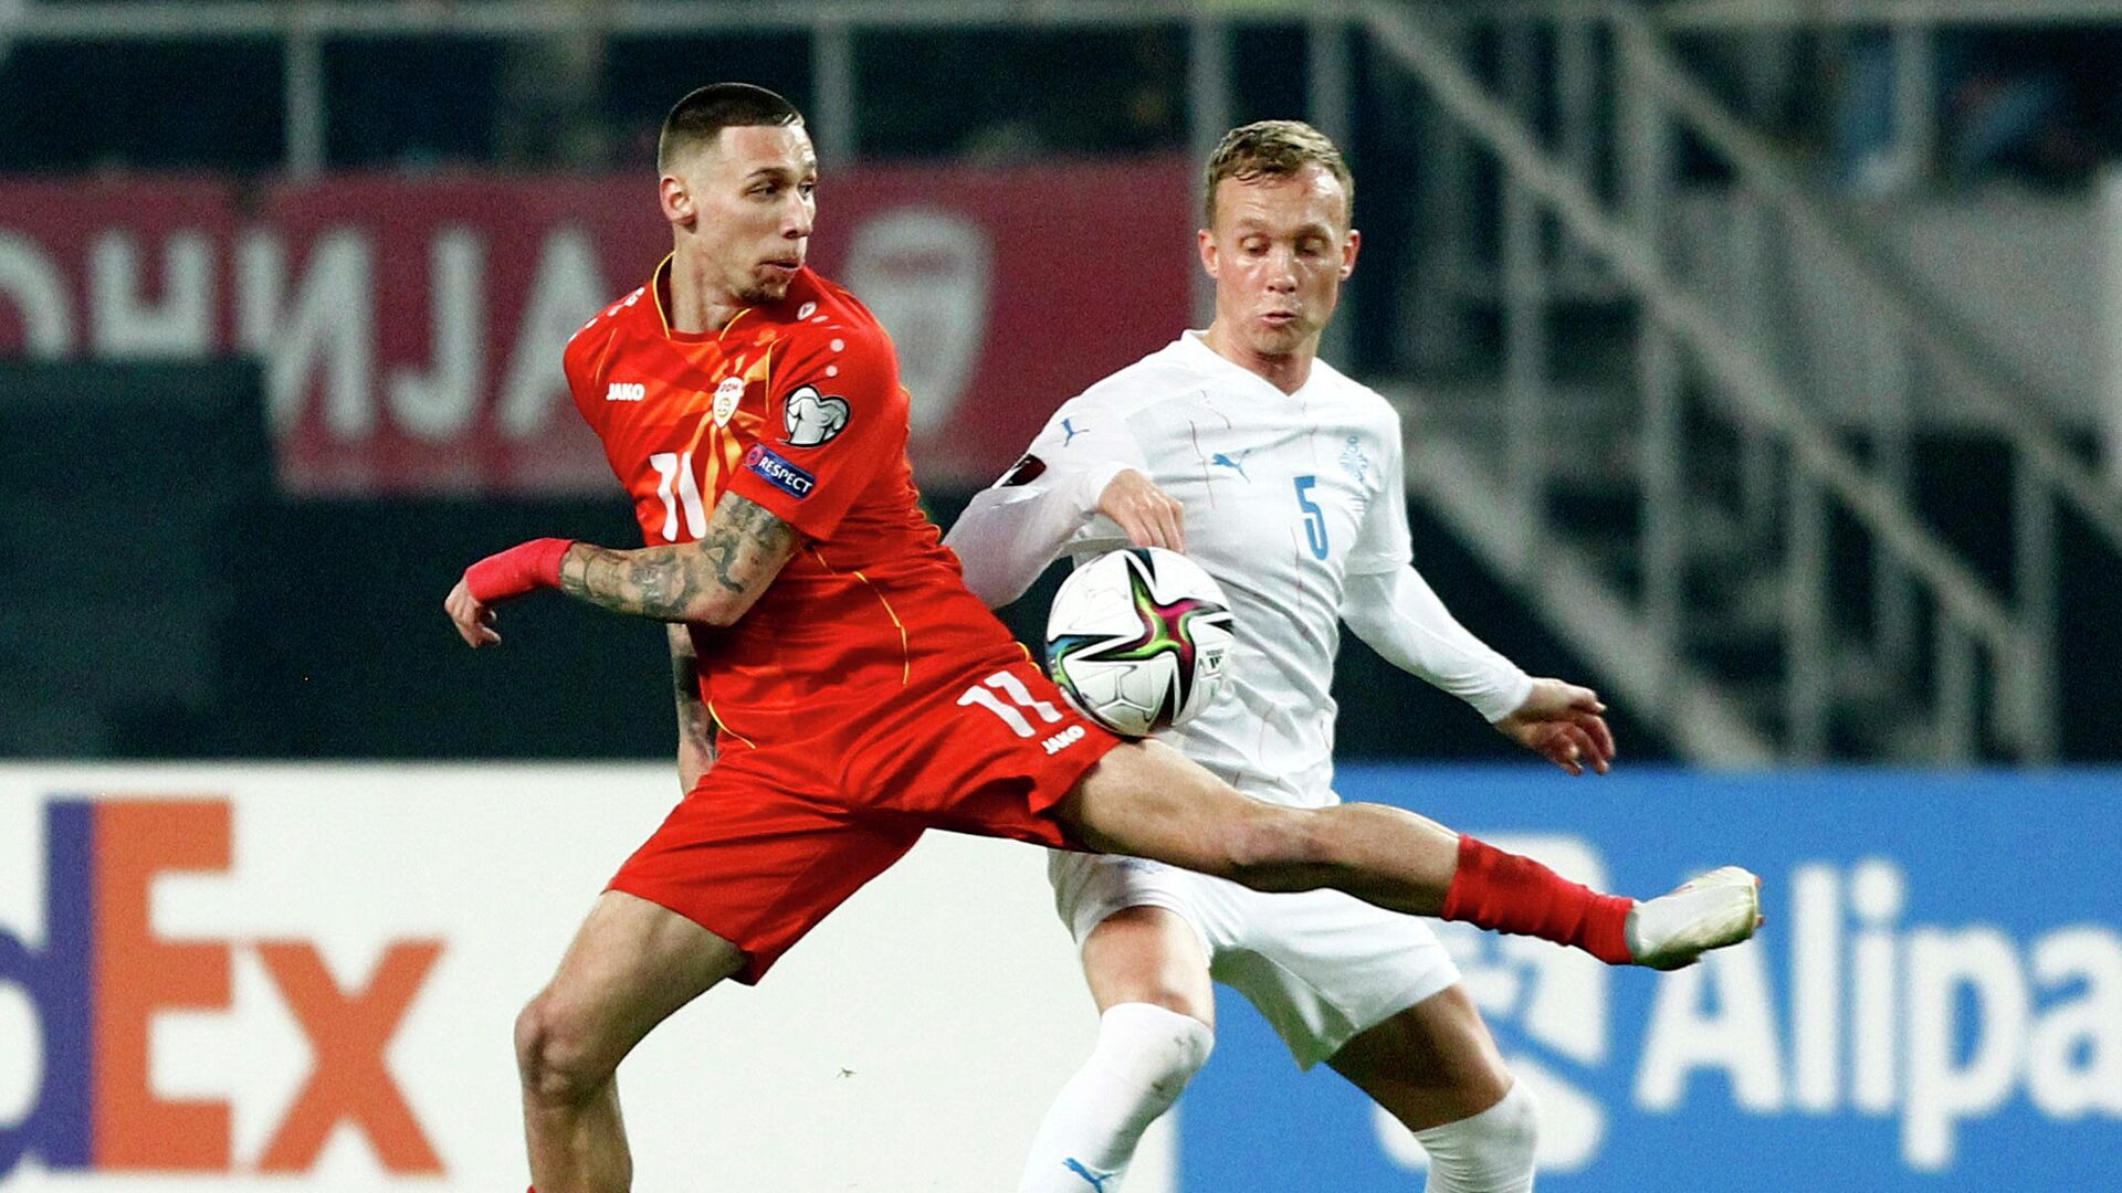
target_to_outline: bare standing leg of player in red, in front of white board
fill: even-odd
[[[634,1163],[620,1061],[745,955],[698,923],[622,892],[598,896],[560,970],[516,1017],[535,1193],[624,1193]]]

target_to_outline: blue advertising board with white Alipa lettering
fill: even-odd
[[[1443,926],[1541,1097],[1541,1191],[2116,1189],[2122,775],[1345,768],[1628,894],[1740,862],[1763,934],[1674,974]],[[1415,1189],[1422,1148],[1218,989],[1184,1189]],[[1260,1106],[1273,1106],[1271,1117]]]

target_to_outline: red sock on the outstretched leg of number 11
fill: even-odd
[[[1583,949],[1608,966],[1628,966],[1634,962],[1628,953],[1630,906],[1634,900],[1602,896],[1532,858],[1462,834],[1460,868],[1451,875],[1441,917],[1490,932],[1538,936]]]

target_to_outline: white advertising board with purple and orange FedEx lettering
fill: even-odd
[[[0,766],[0,1191],[520,1191],[516,1010],[675,798],[668,764]],[[932,834],[626,1061],[637,1187],[1006,1189],[1095,1023],[1044,855]]]

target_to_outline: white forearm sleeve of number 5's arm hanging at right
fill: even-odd
[[[1350,575],[1341,620],[1386,662],[1466,701],[1490,722],[1515,713],[1532,677],[1473,637],[1413,567]]]

